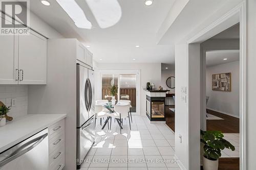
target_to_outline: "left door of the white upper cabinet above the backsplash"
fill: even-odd
[[[0,36],[0,84],[18,83],[18,57],[17,48],[14,50],[14,38],[14,35]]]

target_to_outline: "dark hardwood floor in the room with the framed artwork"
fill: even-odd
[[[207,131],[222,131],[222,133],[239,133],[239,118],[216,111],[208,110],[209,114],[223,118],[223,120],[206,120]]]

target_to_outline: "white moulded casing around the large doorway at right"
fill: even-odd
[[[221,18],[216,20],[215,22],[211,23],[208,27],[203,29],[201,32],[196,34],[194,37],[190,38],[187,43],[187,63],[188,68],[189,66],[189,55],[191,52],[189,49],[190,44],[200,44],[201,42],[209,39],[213,35],[216,35],[220,33],[221,31],[224,31],[225,29],[229,28],[230,26],[234,25],[236,22],[236,18],[239,17],[240,22],[240,169],[246,170],[246,3],[245,1],[239,4],[237,7],[230,10],[228,13],[223,15]],[[224,29],[225,28],[225,29]],[[202,55],[201,55],[202,56]],[[201,60],[201,59],[200,59]],[[205,63],[204,63],[205,64]],[[204,65],[200,63],[200,65]],[[187,69],[189,70],[189,69]],[[189,75],[189,72],[187,72],[188,75],[188,86],[190,85],[191,78],[193,78],[193,75]],[[200,86],[202,85],[200,82],[195,83],[196,85]],[[189,107],[189,103],[193,99],[193,96],[189,96],[189,87],[187,88],[188,93],[188,128],[190,127],[189,124],[193,124],[195,122],[190,121],[189,119],[189,113],[192,111],[192,107]],[[202,96],[202,95],[201,95]],[[205,100],[205,99],[204,99]],[[203,106],[206,109],[206,106]],[[199,117],[198,117],[199,118]],[[188,129],[188,139],[191,137]],[[198,141],[200,141],[198,139]],[[188,141],[189,142],[189,141]],[[188,144],[188,155],[189,153],[193,152],[193,149],[189,147]],[[191,163],[190,161],[193,161],[193,158],[188,156],[187,163]],[[194,163],[194,162],[193,162]],[[197,163],[197,162],[195,162]]]

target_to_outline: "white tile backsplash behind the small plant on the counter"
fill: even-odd
[[[11,106],[12,98],[16,98],[16,106],[8,115],[17,118],[28,114],[28,85],[0,85],[0,101]]]

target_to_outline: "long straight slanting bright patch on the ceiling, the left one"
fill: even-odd
[[[92,29],[92,23],[86,18],[82,9],[75,0],[56,0],[63,10],[75,22],[76,27],[82,29]]]

